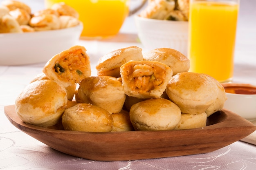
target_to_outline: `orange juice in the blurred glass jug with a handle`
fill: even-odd
[[[65,2],[79,12],[81,36],[104,38],[119,32],[129,13],[130,0],[45,0],[45,6],[57,2]]]

